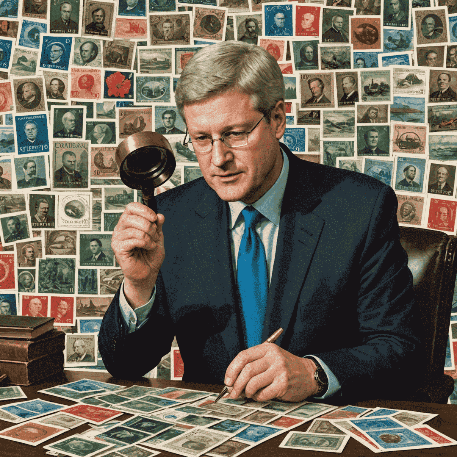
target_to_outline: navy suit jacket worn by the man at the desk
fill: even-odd
[[[290,161],[263,339],[314,354],[335,374],[343,403],[404,398],[420,382],[420,326],[397,198],[367,175]],[[155,367],[176,335],[183,380],[222,384],[245,349],[235,284],[229,207],[204,181],[159,194],[165,261],[149,319],[127,333],[119,291],[103,318],[107,370],[134,379]],[[411,374],[414,373],[414,374]]]

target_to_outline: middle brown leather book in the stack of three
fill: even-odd
[[[34,340],[0,338],[0,360],[30,362],[65,349],[65,333],[51,330]]]

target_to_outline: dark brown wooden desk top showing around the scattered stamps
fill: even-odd
[[[44,393],[37,393],[37,390],[45,389],[48,387],[57,386],[59,384],[69,383],[72,381],[76,381],[82,378],[90,378],[98,381],[104,381],[113,384],[120,384],[124,386],[132,386],[133,384],[138,384],[141,386],[150,386],[150,387],[168,387],[168,386],[175,386],[175,387],[182,387],[182,388],[189,388],[189,389],[197,389],[197,390],[207,390],[211,392],[220,392],[223,386],[215,385],[215,384],[194,384],[194,383],[183,383],[181,381],[167,381],[164,379],[148,379],[148,378],[139,378],[137,381],[125,381],[122,379],[117,379],[111,377],[107,373],[96,373],[96,372],[73,372],[73,371],[64,371],[64,373],[60,373],[56,376],[49,377],[45,379],[43,382],[23,387],[25,394],[27,395],[28,399],[36,399],[41,398],[43,400],[53,401],[60,404],[75,404],[75,402],[71,400],[61,399],[58,397],[53,397],[51,395],[46,395]],[[17,400],[17,401],[25,401],[25,400]],[[11,403],[11,401],[4,401],[0,402],[0,406]],[[385,408],[401,408],[401,409],[409,409],[413,411],[420,411],[420,412],[428,412],[428,413],[436,413],[439,414],[434,419],[427,422],[431,427],[435,428],[438,431],[450,436],[457,440],[457,405],[448,405],[448,404],[436,404],[436,403],[418,403],[418,402],[393,402],[387,400],[372,400],[367,402],[356,403],[360,406],[366,407],[376,407],[376,406],[383,406]],[[123,414],[116,418],[116,420],[125,420],[131,417],[131,414]],[[305,431],[310,422],[307,422],[304,425],[297,427],[294,430]],[[13,425],[11,422],[5,422],[0,420],[0,430],[5,428],[11,427]],[[36,447],[28,446],[27,444],[16,443],[15,441],[9,441],[0,439],[0,457],[43,457],[46,456],[46,451],[43,449],[43,445],[52,443],[54,441],[61,440],[68,436],[74,435],[75,433],[80,433],[84,430],[88,430],[89,425],[84,424],[80,425],[73,430],[69,430],[62,435],[56,436],[55,438],[46,441],[45,443],[38,445]],[[278,446],[281,441],[284,439],[286,432],[280,436],[276,436],[269,441],[266,441],[259,446],[251,449],[250,451],[245,452],[243,455],[246,457],[318,457],[318,456],[326,456],[328,457],[328,452],[317,452],[317,451],[301,451],[296,449],[279,449]],[[401,454],[401,456],[400,456]],[[398,452],[396,451],[395,456],[398,457],[422,457],[422,456],[455,456],[457,454],[457,447],[456,446],[447,446],[435,449],[418,449],[418,450],[411,450],[411,451],[403,451]],[[176,456],[177,454],[171,454],[169,452],[163,452],[160,456],[170,457]],[[341,454],[342,456],[347,457],[368,457],[375,455],[374,452],[367,449],[367,447],[363,446],[361,443],[354,439],[350,439]],[[390,454],[389,454],[390,455]]]

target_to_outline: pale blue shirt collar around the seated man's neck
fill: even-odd
[[[271,188],[259,198],[256,202],[252,203],[259,213],[265,216],[270,222],[274,223],[276,227],[279,226],[279,219],[281,217],[282,197],[284,197],[284,190],[286,189],[287,176],[289,174],[289,159],[284,151],[282,152],[282,170]],[[241,211],[244,207],[248,206],[244,202],[228,202],[230,207],[230,221],[229,226],[232,230],[239,218]]]

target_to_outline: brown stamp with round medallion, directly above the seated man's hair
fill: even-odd
[[[292,9],[292,5],[289,7]],[[227,8],[204,8],[202,6],[195,6],[192,35],[194,38],[197,38],[197,40],[210,40],[214,42],[223,41],[226,27]]]

